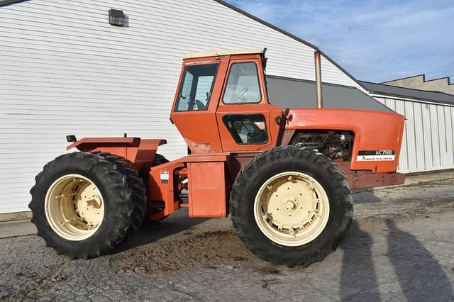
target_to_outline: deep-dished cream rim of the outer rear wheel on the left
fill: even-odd
[[[71,241],[96,233],[104,218],[104,201],[98,187],[87,177],[67,174],[49,187],[45,216],[57,235]]]

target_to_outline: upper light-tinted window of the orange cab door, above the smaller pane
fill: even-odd
[[[254,62],[233,64],[228,75],[223,103],[248,104],[259,103],[261,100],[257,65]]]

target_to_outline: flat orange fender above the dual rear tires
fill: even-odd
[[[109,152],[123,157],[132,164],[133,169],[140,170],[145,164],[155,160],[157,147],[167,143],[166,140],[141,138],[82,138],[67,146],[66,150],[77,148],[82,152]]]

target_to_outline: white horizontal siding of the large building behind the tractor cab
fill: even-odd
[[[121,9],[128,26],[108,22]],[[314,79],[314,49],[212,0],[32,0],[0,8],[0,213],[28,190],[65,135],[166,138],[185,52],[267,47],[268,74]],[[323,81],[358,86],[323,57]]]

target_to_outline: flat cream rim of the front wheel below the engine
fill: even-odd
[[[272,242],[287,247],[305,245],[319,237],[328,223],[328,196],[319,181],[307,174],[279,173],[260,187],[254,217]]]

